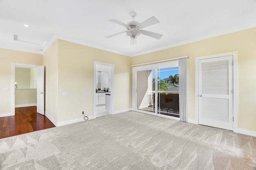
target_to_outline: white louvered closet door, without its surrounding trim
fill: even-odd
[[[233,130],[233,57],[198,61],[199,124]]]

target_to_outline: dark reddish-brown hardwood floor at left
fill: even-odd
[[[16,107],[14,116],[0,117],[0,139],[55,127],[45,116],[36,112],[36,106]]]

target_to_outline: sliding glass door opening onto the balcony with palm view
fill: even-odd
[[[142,66],[134,75],[136,110],[180,117],[177,61]]]

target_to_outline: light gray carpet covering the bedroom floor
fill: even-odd
[[[129,111],[0,139],[0,169],[250,170],[256,137]]]

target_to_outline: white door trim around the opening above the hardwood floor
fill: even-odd
[[[22,64],[22,63],[11,63],[11,116],[15,115],[15,67],[31,68],[38,67],[40,65],[34,64]]]

